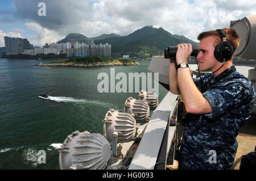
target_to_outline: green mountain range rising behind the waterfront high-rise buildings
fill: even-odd
[[[68,39],[94,39],[96,45],[100,43],[111,44],[112,57],[122,57],[123,54],[129,54],[130,57],[147,58],[153,55],[163,55],[164,48],[168,46],[175,46],[180,43],[197,45],[195,41],[183,35],[172,35],[163,28],[154,28],[152,26],[145,26],[127,36],[119,36],[112,33],[88,38],[79,33],[71,33],[57,43],[66,43]]]

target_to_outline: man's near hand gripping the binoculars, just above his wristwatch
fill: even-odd
[[[183,43],[177,45],[176,62],[179,65],[181,62],[188,64],[188,57],[193,51],[192,44]]]

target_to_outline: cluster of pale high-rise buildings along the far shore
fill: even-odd
[[[80,40],[81,41],[81,40]],[[101,44],[96,45],[93,39],[85,39],[84,42],[79,42],[76,39],[68,39],[67,43],[51,43],[40,46],[33,46],[27,39],[19,37],[5,36],[6,54],[27,54],[36,56],[37,54],[66,54],[67,57],[86,57],[86,56],[111,56],[111,45]]]

